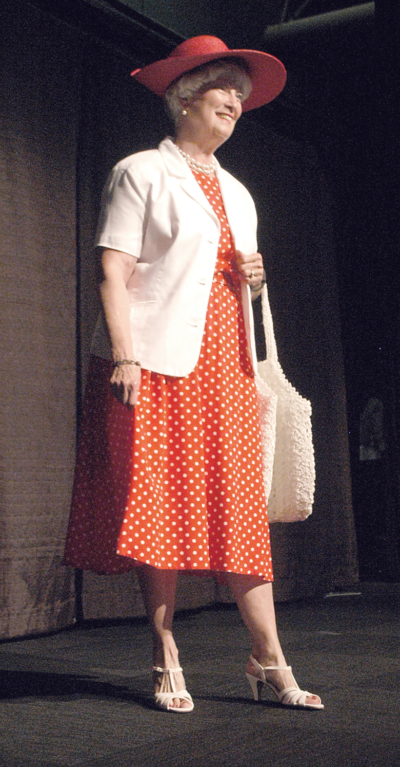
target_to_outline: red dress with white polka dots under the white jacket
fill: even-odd
[[[183,378],[142,370],[134,414],[109,392],[111,365],[93,358],[66,561],[99,572],[147,563],[272,581],[259,412],[233,242],[217,179],[194,175],[221,224],[200,357]],[[93,416],[102,423],[93,427]],[[94,444],[93,429],[101,435]]]

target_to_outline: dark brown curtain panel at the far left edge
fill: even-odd
[[[61,564],[75,452],[76,135],[73,32],[6,3],[0,185],[2,637],[74,614]]]

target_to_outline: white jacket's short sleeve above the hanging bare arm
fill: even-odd
[[[115,166],[102,193],[96,245],[140,258],[145,194],[132,168]]]

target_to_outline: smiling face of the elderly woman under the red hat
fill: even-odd
[[[242,114],[242,94],[226,81],[216,81],[188,100],[185,108],[181,123],[185,137],[216,149],[232,135]]]

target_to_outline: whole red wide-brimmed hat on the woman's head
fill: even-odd
[[[243,112],[262,107],[281,93],[286,82],[286,70],[278,58],[262,51],[231,51],[222,40],[210,35],[185,40],[174,48],[168,58],[154,61],[143,69],[135,69],[131,74],[154,94],[163,96],[167,87],[184,72],[207,61],[233,56],[246,61],[252,81],[252,92],[243,103]]]

